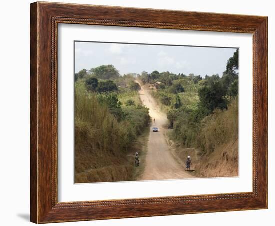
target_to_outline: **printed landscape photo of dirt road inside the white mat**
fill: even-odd
[[[238,48],[74,42],[74,182],[238,176]]]

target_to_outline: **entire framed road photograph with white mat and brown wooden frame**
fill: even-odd
[[[267,17],[31,4],[31,221],[267,208]]]

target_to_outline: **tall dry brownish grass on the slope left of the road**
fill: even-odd
[[[137,128],[127,120],[118,122],[96,95],[81,87],[76,87],[75,95],[74,182],[133,180],[134,153],[142,155]]]

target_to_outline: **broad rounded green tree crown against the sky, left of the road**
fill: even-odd
[[[115,79],[119,77],[119,72],[113,65],[102,65],[90,69],[89,71],[98,79]]]

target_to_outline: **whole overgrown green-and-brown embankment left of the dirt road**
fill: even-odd
[[[136,90],[121,87],[115,93],[118,102],[102,101],[110,94],[88,92],[85,79],[75,82],[76,183],[129,181],[142,170],[134,166],[134,154],[139,152],[142,160],[146,151],[148,110],[139,105]],[[126,105],[128,99],[134,103]]]

